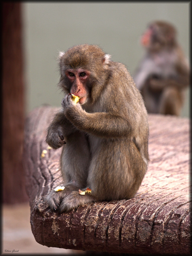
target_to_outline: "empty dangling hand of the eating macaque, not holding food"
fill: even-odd
[[[51,123],[47,129],[46,142],[53,149],[62,147],[66,142],[64,141],[62,127]]]

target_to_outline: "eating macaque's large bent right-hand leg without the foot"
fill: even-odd
[[[87,179],[96,200],[133,197],[147,170],[147,159],[142,157],[135,143],[126,138],[102,141],[96,153]]]

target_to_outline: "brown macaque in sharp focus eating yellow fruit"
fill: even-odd
[[[46,202],[63,212],[133,197],[149,159],[147,111],[133,78],[95,45],[71,47],[58,61],[65,96],[46,142],[63,147],[58,185],[65,188],[50,191]],[[71,94],[79,97],[77,103]]]

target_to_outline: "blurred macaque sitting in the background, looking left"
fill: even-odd
[[[173,25],[152,22],[141,37],[146,55],[134,82],[149,113],[180,115],[189,85],[189,66],[176,40]]]

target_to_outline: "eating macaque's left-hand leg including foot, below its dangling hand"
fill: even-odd
[[[59,208],[63,212],[64,198],[86,185],[89,158],[89,144],[84,133],[76,131],[66,137],[60,159],[63,183],[58,184],[65,186],[65,189],[52,190],[45,198],[52,210]]]

